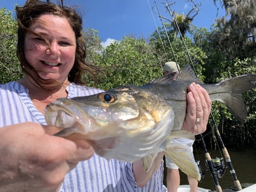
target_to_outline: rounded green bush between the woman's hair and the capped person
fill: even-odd
[[[101,60],[95,62],[104,73],[99,74],[98,87],[109,90],[121,85],[144,85],[161,74],[151,47],[144,39],[124,37],[101,52]]]

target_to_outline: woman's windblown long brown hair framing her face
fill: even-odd
[[[39,76],[35,69],[26,61],[24,56],[24,38],[26,33],[32,33],[33,35],[40,36],[29,29],[29,26],[31,26],[31,24],[43,14],[55,14],[60,17],[65,17],[70,22],[76,37],[75,63],[68,74],[68,81],[82,84],[81,76],[83,71],[88,71],[95,75],[95,68],[85,61],[86,46],[82,36],[82,18],[75,9],[63,6],[63,1],[57,2],[58,4],[51,3],[50,0],[47,0],[47,2],[27,0],[23,7],[16,7],[18,22],[17,57],[19,62],[21,62],[23,71],[30,75],[36,82],[40,81],[41,84],[48,84],[52,82],[52,80],[45,81],[38,78]],[[50,43],[47,38],[42,38],[50,47]]]

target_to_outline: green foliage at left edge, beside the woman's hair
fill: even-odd
[[[12,12],[0,8],[0,82],[18,80],[23,73],[16,57],[17,22]]]

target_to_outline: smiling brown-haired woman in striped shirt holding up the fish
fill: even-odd
[[[82,21],[74,9],[30,0],[16,11],[17,56],[26,75],[0,86],[0,127],[9,126],[0,129],[0,152],[8,155],[0,158],[0,170],[9,170],[0,172],[1,191],[165,191],[161,153],[145,173],[141,160],[107,161],[92,156],[86,141],[47,135],[56,131],[43,126],[46,105],[101,90],[80,85],[82,72],[93,69],[85,63]],[[188,90],[183,129],[199,134],[206,129],[211,101],[194,83]],[[196,116],[203,118],[200,124]],[[16,159],[9,161],[11,156]]]

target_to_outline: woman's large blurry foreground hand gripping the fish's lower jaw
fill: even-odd
[[[57,131],[34,122],[0,129],[0,191],[56,191],[68,171],[93,155],[86,141],[47,134]]]

